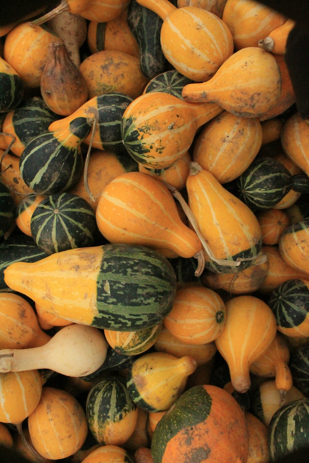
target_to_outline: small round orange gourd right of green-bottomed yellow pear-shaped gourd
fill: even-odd
[[[290,225],[288,215],[281,209],[264,209],[256,213],[261,226],[263,244],[278,244],[284,230]]]

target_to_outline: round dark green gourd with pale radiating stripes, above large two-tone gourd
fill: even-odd
[[[90,204],[70,193],[51,194],[35,208],[31,234],[46,254],[92,246],[97,226]]]

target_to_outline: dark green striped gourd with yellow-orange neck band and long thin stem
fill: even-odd
[[[68,128],[32,138],[19,161],[26,185],[39,194],[60,193],[73,186],[82,173],[80,145],[90,128],[90,121],[79,117]]]

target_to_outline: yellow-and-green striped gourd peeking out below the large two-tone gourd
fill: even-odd
[[[113,331],[104,330],[108,344],[125,355],[137,355],[148,350],[158,339],[162,323],[142,328],[138,331]]]

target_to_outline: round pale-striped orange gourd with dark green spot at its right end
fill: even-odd
[[[214,341],[225,325],[225,305],[212,289],[203,286],[177,289],[164,326],[176,338],[189,344]]]

